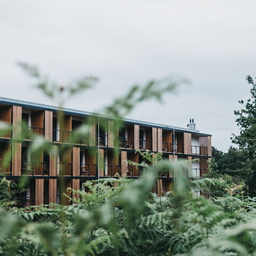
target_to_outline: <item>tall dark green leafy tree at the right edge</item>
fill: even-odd
[[[243,172],[248,194],[256,195],[256,82],[251,76],[246,77],[246,81],[251,86],[249,98],[244,104],[243,100],[238,102],[244,106],[241,110],[234,110],[237,116],[236,123],[240,128],[239,135],[232,134],[232,142],[239,146],[244,155]]]

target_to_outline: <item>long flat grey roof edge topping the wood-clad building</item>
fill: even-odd
[[[29,102],[29,101],[24,101],[24,100],[15,100],[15,99],[10,99],[10,98],[5,98],[5,97],[0,97],[0,103],[8,104],[8,105],[16,105],[16,106],[22,106],[22,107],[29,107],[29,108],[35,108],[35,109],[42,109],[42,110],[50,110],[50,111],[59,111],[60,108],[56,106],[51,106],[47,104],[41,104],[41,103],[35,103],[35,102]],[[109,118],[109,119],[115,119],[113,116],[107,116],[104,114],[99,114],[99,113],[94,113],[94,112],[88,112],[88,111],[83,111],[83,110],[76,110],[72,108],[61,108],[61,110],[65,114],[75,114],[78,116],[99,116],[102,118]],[[124,122],[132,123],[132,124],[138,124],[142,126],[153,126],[157,128],[162,128],[166,130],[176,130],[179,132],[190,132],[192,134],[198,134],[201,136],[212,136],[211,134],[205,134],[201,133],[199,130],[190,130],[188,128],[182,128],[182,127],[177,127],[177,126],[171,126],[171,125],[165,125],[165,124],[157,124],[157,123],[152,123],[152,122],[145,122],[145,121],[140,121],[140,120],[134,120],[130,118],[123,118],[122,119]]]

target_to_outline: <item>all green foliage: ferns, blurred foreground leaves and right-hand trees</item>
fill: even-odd
[[[22,67],[37,79],[38,88],[59,100],[60,106],[65,92],[74,94],[95,82],[94,78],[83,78],[67,88],[53,84],[51,89],[48,78],[36,68],[26,64]],[[256,194],[256,85],[250,77],[247,80],[253,87],[252,101],[248,100],[245,110],[235,112],[241,130],[239,136],[233,136],[233,142],[239,148],[230,147],[224,153],[213,147],[204,179],[188,182],[182,176],[186,162],[174,165],[159,161],[145,166],[146,172],[134,181],[110,178],[86,182],[85,190],[72,191],[79,199],[71,206],[50,204],[18,209],[11,200],[19,193],[16,183],[1,176],[0,255],[255,256],[256,197],[247,195]],[[135,103],[149,98],[160,100],[163,92],[172,92],[177,84],[152,80],[143,87],[133,86],[128,96],[116,99],[106,113],[120,119]],[[78,134],[84,136],[88,125]],[[1,127],[7,129],[4,124]],[[42,138],[35,138],[31,150],[36,152],[46,144]],[[153,162],[152,154],[143,155]],[[156,177],[174,168],[179,173],[175,188],[157,197],[152,193]],[[26,183],[26,177],[22,183]],[[193,198],[193,192],[198,190],[204,196]]]

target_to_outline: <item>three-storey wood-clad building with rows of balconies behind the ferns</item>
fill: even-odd
[[[66,188],[82,188],[86,180],[112,177],[118,173],[128,178],[139,178],[144,167],[132,166],[128,160],[144,160],[136,150],[161,152],[170,161],[188,160],[188,180],[202,177],[207,172],[211,157],[211,135],[188,128],[124,119],[122,124],[111,117],[86,111],[62,109],[63,121],[58,120],[58,108],[45,104],[0,98],[0,120],[12,126],[12,132],[0,134],[0,172],[9,172],[7,178],[18,182],[26,175],[26,192],[20,195],[20,206],[62,202]],[[22,138],[20,121],[30,131]],[[88,136],[77,139],[77,128],[90,123]],[[116,125],[119,127],[116,129]],[[33,156],[30,144],[34,136],[48,141]],[[74,138],[70,142],[70,138]],[[66,146],[66,147],[63,147]],[[65,153],[60,149],[65,148]],[[118,149],[118,150],[117,150]],[[6,159],[6,153],[9,159]],[[8,154],[7,154],[8,156]],[[193,158],[199,161],[193,162]],[[7,163],[3,161],[7,161]],[[98,163],[103,164],[98,164]],[[158,177],[154,192],[161,196],[174,186],[179,171]],[[64,188],[60,186],[60,179]],[[67,200],[63,200],[68,204]]]

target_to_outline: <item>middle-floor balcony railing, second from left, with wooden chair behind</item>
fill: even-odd
[[[22,175],[50,175],[50,164],[48,162],[21,162]]]

